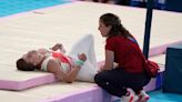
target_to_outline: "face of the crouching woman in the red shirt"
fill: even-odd
[[[111,30],[111,26],[105,26],[101,20],[99,21],[99,28],[98,30],[101,32],[102,37],[108,37],[110,30]]]

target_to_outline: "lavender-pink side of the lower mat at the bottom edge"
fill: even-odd
[[[95,86],[79,92],[41,100],[40,102],[111,102],[111,95]]]

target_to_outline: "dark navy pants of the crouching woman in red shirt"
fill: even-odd
[[[127,88],[138,93],[149,83],[150,78],[144,72],[129,73],[118,68],[95,74],[94,81],[110,94],[122,96],[127,93]]]

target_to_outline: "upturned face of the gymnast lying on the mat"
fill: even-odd
[[[38,65],[41,59],[41,54],[37,50],[31,50],[23,54],[22,59],[30,64]]]

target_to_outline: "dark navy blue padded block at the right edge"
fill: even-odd
[[[182,94],[182,43],[166,49],[163,92]]]

